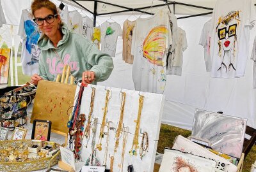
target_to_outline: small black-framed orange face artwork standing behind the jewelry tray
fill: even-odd
[[[52,122],[50,120],[34,120],[31,139],[49,141],[51,136],[51,125]]]

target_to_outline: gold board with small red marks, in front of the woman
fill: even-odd
[[[76,85],[40,80],[30,122],[50,120],[51,128],[68,133],[68,110],[72,111]],[[71,108],[70,108],[71,107]]]

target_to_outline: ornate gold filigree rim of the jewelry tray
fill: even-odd
[[[32,145],[31,140],[5,140],[0,141],[0,149],[3,147],[17,147],[24,145],[29,147]],[[55,143],[58,148],[60,145]],[[60,150],[52,157],[44,157],[42,159],[26,161],[26,162],[0,162],[1,171],[35,171],[44,168],[51,168],[61,160]]]

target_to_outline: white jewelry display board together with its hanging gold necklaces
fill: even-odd
[[[92,89],[94,88],[95,96],[92,112],[90,107],[92,107],[91,97]],[[80,87],[77,87],[76,95],[79,93],[79,90]],[[106,104],[107,99],[108,104]],[[100,85],[88,85],[84,87],[80,114],[85,114],[86,120],[83,128],[86,129],[88,116],[91,111],[92,117],[90,117],[90,120],[92,129],[90,129],[90,138],[86,139],[86,136],[82,136],[83,146],[80,150],[81,161],[85,162],[87,160],[88,162],[88,158],[94,157],[97,158],[94,164],[98,166],[99,164],[101,166],[102,164],[106,165],[106,169],[113,169],[113,171],[127,171],[127,166],[132,164],[134,171],[152,172],[154,169],[163,105],[164,96],[161,94],[102,87]],[[120,122],[122,116],[123,119]],[[97,120],[95,120],[96,118]],[[95,121],[97,123],[97,129],[93,129],[95,127]],[[138,121],[140,122],[138,123]],[[103,129],[102,124],[105,125]],[[100,131],[103,132],[100,133]],[[116,137],[117,133],[120,133],[120,136]],[[138,140],[136,140],[134,134],[138,135]],[[95,145],[92,144],[93,135]],[[103,137],[100,138],[100,136]],[[115,146],[117,138],[119,142],[118,147]],[[123,143],[124,138],[126,140],[126,143],[124,142],[125,144]],[[142,140],[144,140],[142,142],[144,144],[142,146],[143,150],[148,146],[145,152],[141,152],[142,150],[140,150]],[[74,146],[74,143],[70,145]],[[70,147],[72,148],[73,146]],[[115,149],[116,152],[114,151]],[[92,156],[93,150],[95,152],[93,152],[94,154]],[[143,153],[143,155],[141,156],[140,153]]]

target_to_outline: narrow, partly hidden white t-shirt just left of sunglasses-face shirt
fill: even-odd
[[[206,71],[210,72],[212,68],[212,60],[211,60],[211,54],[210,54],[210,35],[211,30],[211,19],[205,22],[204,27],[202,29],[202,33],[200,36],[199,45],[202,45],[204,47],[204,61],[205,61],[205,67]]]

